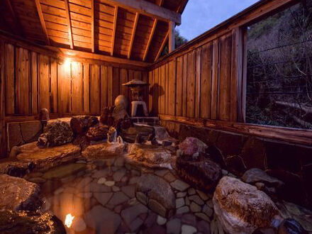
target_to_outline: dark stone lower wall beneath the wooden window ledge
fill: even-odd
[[[170,121],[162,121],[162,125],[180,142],[187,137],[202,140],[216,161],[233,174],[241,176],[255,167],[264,169],[285,183],[285,200],[312,207],[312,147]]]

